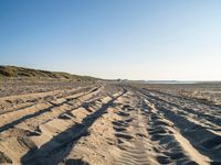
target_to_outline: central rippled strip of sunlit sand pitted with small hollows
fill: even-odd
[[[128,103],[126,103],[128,102]],[[119,154],[113,164],[149,165],[158,164],[148,132],[146,117],[143,114],[141,100],[129,92],[117,114],[120,120],[113,121]]]

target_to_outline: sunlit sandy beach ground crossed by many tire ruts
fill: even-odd
[[[201,87],[36,86],[1,94],[0,164],[221,164],[220,100]]]

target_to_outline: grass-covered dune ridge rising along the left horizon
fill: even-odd
[[[97,80],[98,78],[90,76],[78,76],[67,73],[46,72],[15,66],[0,66],[0,79],[8,78],[25,78],[25,79],[55,79],[55,80],[76,80],[88,81]]]

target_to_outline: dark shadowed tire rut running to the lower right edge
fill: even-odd
[[[145,94],[141,92],[141,95]],[[201,124],[189,120],[185,116],[180,116],[180,113],[176,113],[171,110],[171,105],[170,107],[167,107],[168,105],[161,102],[161,100],[158,100],[157,98],[149,97],[149,95],[145,95],[145,97],[148,99],[148,101],[155,105],[159,113],[161,113],[166,119],[171,121],[175,124],[175,127],[179,129],[179,132],[181,133],[182,138],[190,142],[192,148],[194,148],[196,152],[198,152],[204,157],[210,157],[210,160],[213,160],[212,163],[220,162],[220,152],[218,151],[220,151],[219,145],[221,141],[219,134],[208,130]],[[199,136],[198,134],[203,134],[203,136]],[[214,145],[212,145],[212,143],[214,143]],[[211,147],[209,148],[207,146],[203,146],[206,144],[211,145]]]

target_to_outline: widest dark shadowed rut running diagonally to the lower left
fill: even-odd
[[[125,92],[125,91],[124,91]],[[112,102],[120,97],[109,99],[106,103],[98,103],[98,109],[94,109],[86,116],[82,123],[76,123],[65,131],[55,135],[52,140],[43,144],[40,148],[31,151],[22,157],[22,164],[57,164],[74,147],[78,139],[88,135],[88,128],[103,114]],[[72,117],[71,117],[72,118]],[[53,162],[51,160],[53,158]]]

